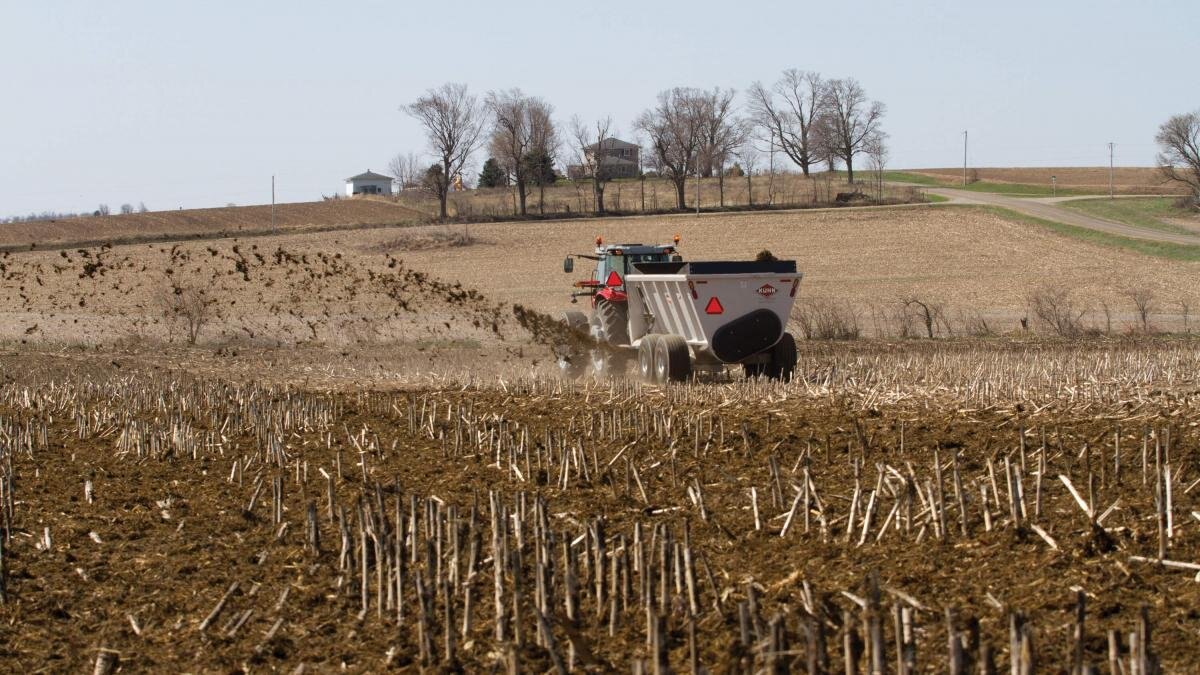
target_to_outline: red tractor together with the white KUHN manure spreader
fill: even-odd
[[[636,357],[650,382],[684,381],[697,371],[742,365],[746,376],[787,380],[796,369],[796,340],[785,328],[803,274],[796,261],[685,262],[676,246],[596,241],[590,280],[575,295],[592,298],[593,313],[564,313],[594,342],[588,358],[560,357],[568,375],[588,365],[617,375]],[[568,258],[564,270],[574,269]]]

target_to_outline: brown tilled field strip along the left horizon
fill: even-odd
[[[425,216],[383,199],[334,199],[277,204],[275,227],[306,231],[355,225],[420,222]],[[54,246],[74,241],[138,241],[163,238],[238,237],[271,231],[271,207],[222,207],[84,216],[0,225],[0,247]]]

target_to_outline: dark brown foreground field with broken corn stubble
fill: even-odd
[[[0,649],[22,670],[841,671],[875,626],[898,658],[896,613],[935,673],[953,611],[968,663],[1007,668],[1018,617],[1058,671],[1078,591],[1082,662],[1111,629],[1128,664],[1145,611],[1165,671],[1200,668],[1194,571],[1134,557],[1158,555],[1156,466],[1168,557],[1200,556],[1194,348],[878,347],[806,353],[787,386],[343,394],[0,354]],[[878,381],[832,376],[854,363]]]

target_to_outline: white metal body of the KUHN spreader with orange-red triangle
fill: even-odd
[[[796,261],[635,263],[625,277],[630,346],[679,336],[696,366],[770,359],[803,273]]]

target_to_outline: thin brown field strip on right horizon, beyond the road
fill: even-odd
[[[907,169],[910,173],[946,178],[955,181],[962,178],[962,167]],[[1037,167],[1037,168],[972,168],[971,175],[978,180],[992,183],[1019,183],[1027,185],[1050,185],[1050,177],[1060,187],[1088,187],[1098,192],[1108,192],[1109,167]],[[1153,167],[1116,167],[1112,171],[1112,185],[1121,195],[1184,195],[1181,189],[1163,179],[1162,173]]]

